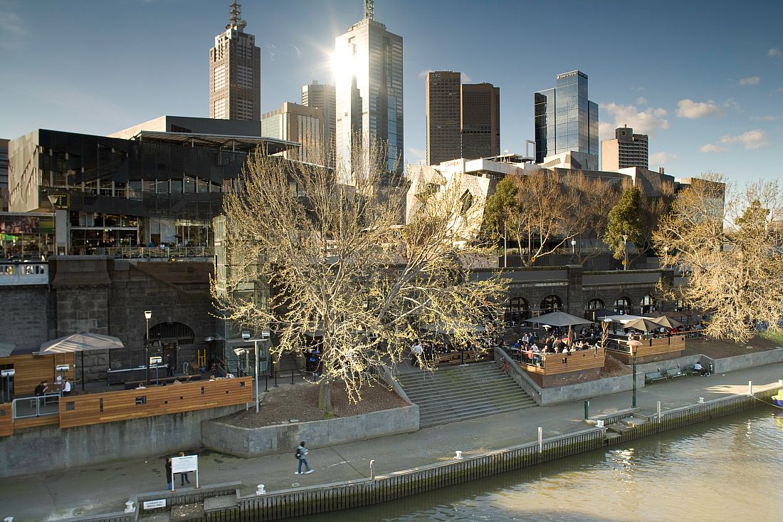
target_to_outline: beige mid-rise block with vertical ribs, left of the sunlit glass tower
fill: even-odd
[[[319,107],[283,103],[280,109],[263,114],[261,134],[267,138],[301,143],[299,150],[284,151],[284,158],[321,163],[323,111]]]

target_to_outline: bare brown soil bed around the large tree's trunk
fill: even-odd
[[[220,421],[232,426],[258,428],[275,426],[294,419],[298,422],[310,422],[410,406],[388,386],[379,382],[373,386],[363,387],[361,395],[359,404],[351,404],[348,402],[348,393],[345,393],[345,383],[335,382],[332,390],[334,415],[327,417],[323,411],[318,409],[318,385],[301,382],[280,386],[276,390],[273,389],[269,393],[265,393],[258,413],[252,409],[240,411],[223,417]]]

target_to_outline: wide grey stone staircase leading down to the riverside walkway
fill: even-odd
[[[406,372],[397,380],[419,406],[422,428],[536,405],[494,361]]]

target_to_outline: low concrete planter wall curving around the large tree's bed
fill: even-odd
[[[413,404],[353,417],[262,428],[240,428],[217,420],[204,421],[201,441],[206,448],[221,453],[258,457],[287,451],[293,455],[301,440],[306,440],[309,448],[323,448],[417,430],[419,407]]]

